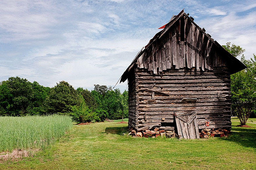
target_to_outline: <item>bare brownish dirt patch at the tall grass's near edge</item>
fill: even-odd
[[[39,149],[27,151],[27,150],[21,150],[21,149],[14,149],[12,152],[1,152],[0,163],[3,161],[16,161],[25,157],[31,157],[33,156],[33,153],[38,150]]]

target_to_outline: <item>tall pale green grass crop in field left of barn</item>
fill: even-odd
[[[72,128],[69,116],[0,117],[0,152],[42,148],[55,143]]]

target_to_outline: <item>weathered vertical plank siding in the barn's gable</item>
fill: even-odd
[[[181,18],[160,39],[147,46],[137,62],[139,68],[147,68],[154,74],[170,68],[212,70],[213,67],[226,66],[216,48],[205,32],[188,19]]]

